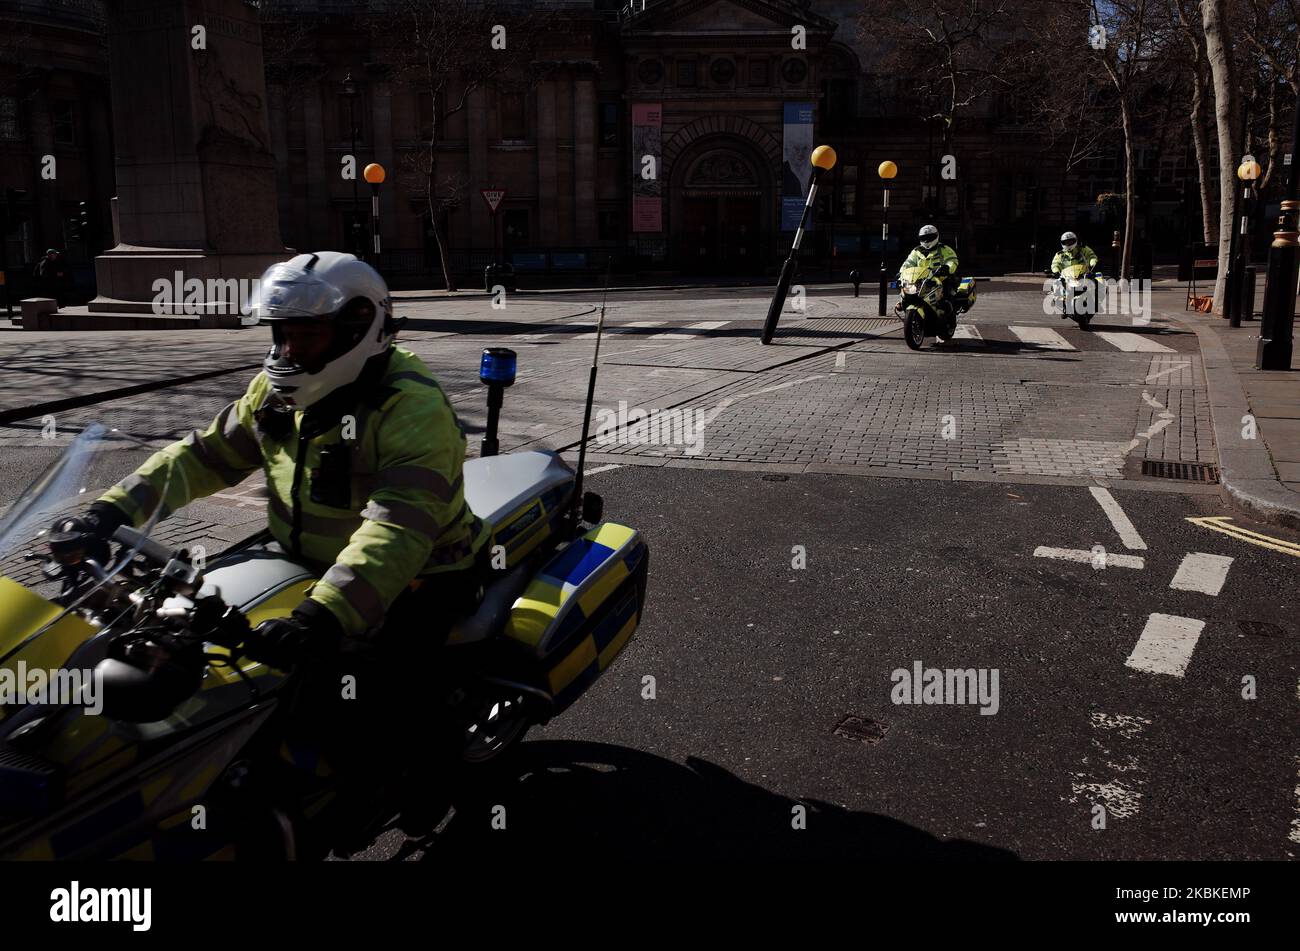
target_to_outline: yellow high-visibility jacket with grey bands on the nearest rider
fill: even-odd
[[[312,600],[347,634],[378,628],[412,579],[469,568],[490,534],[465,503],[465,437],[442,388],[411,351],[386,356],[377,382],[325,418],[290,412],[259,373],[203,433],[156,452],[103,501],[140,525],[160,504],[166,517],[261,468],[276,540],[324,570]]]

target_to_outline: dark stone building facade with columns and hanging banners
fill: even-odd
[[[434,104],[373,49],[356,14],[393,1],[261,0],[281,233],[296,248],[367,243],[369,188],[339,174],[355,127],[359,166],[389,170],[380,190],[385,269],[436,286],[430,203],[404,169],[429,117],[460,88],[452,82]],[[859,29],[854,0],[534,6],[550,27],[526,69],[473,90],[439,131],[436,213],[463,279],[497,253],[521,270],[601,270],[612,253],[620,270],[771,273],[789,247],[788,207],[806,187],[807,147],[820,143],[835,147],[838,164],[819,188],[805,242],[812,266],[832,256],[841,275],[879,266],[876,168],[887,158],[900,168],[889,210],[896,255],[927,221],[985,270],[1041,268],[1066,227],[1108,244],[1093,197],[1117,188],[1121,166],[1104,158],[1065,174],[1014,104],[982,101],[963,113],[952,147],[957,177],[942,178],[939,130],[906,83],[883,74],[883,51]],[[65,225],[81,200],[94,203],[95,247],[110,247],[100,3],[6,0],[4,9],[0,18],[22,19],[25,39],[10,49],[0,43],[0,178],[27,188],[35,212],[10,247],[72,247]],[[1156,233],[1183,230],[1183,146],[1149,160],[1153,174],[1160,166]],[[38,187],[39,157],[49,152],[60,177]],[[495,218],[480,196],[489,187],[506,191]],[[1041,249],[1031,257],[1035,235]]]

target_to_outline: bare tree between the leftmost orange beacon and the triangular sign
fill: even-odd
[[[525,6],[481,0],[389,0],[369,18],[376,52],[391,69],[394,84],[428,109],[420,147],[406,171],[422,190],[447,290],[456,290],[442,234],[442,212],[459,204],[467,179],[445,174],[439,146],[447,121],[463,112],[476,90],[510,77],[529,77],[543,14]]]

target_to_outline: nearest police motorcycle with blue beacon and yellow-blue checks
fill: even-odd
[[[493,443],[514,375],[512,352],[485,352]],[[53,540],[57,517],[116,482],[104,472],[120,456],[112,444],[104,426],[87,427],[0,518],[0,859],[291,860],[364,847],[355,828],[330,825],[338,782],[325,757],[281,730],[296,674],[240,652],[316,577],[269,531],[209,560],[165,543],[156,516],[118,529],[103,563]],[[432,722],[393,725],[412,761],[433,764],[416,772],[445,786],[376,803],[365,844],[393,826],[428,834],[458,790],[490,787],[526,730],[576,702],[636,631],[649,550],[602,518],[581,472],[555,452],[464,463],[502,570],[430,673]],[[398,805],[412,796],[436,808],[412,818]]]

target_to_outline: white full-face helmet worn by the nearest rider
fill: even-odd
[[[261,275],[250,314],[270,326],[274,343],[263,360],[266,378],[295,409],[320,403],[355,382],[365,364],[396,334],[389,286],[354,255],[321,251],[273,264]],[[334,342],[313,366],[283,356],[283,325],[321,321]]]

